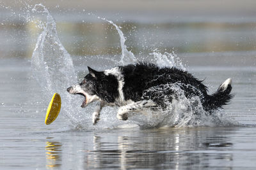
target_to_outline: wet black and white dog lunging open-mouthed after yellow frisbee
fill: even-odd
[[[82,108],[93,101],[99,101],[92,115],[96,124],[100,110],[104,106],[119,106],[116,117],[127,120],[127,113],[143,111],[143,108],[166,108],[166,99],[172,102],[177,92],[166,85],[176,83],[186,97],[200,97],[205,111],[211,113],[232,99],[232,80],[228,78],[217,92],[207,94],[207,87],[191,74],[175,67],[157,67],[155,64],[139,62],[127,66],[117,66],[105,71],[95,71],[88,67],[87,74],[79,84],[68,87],[70,94],[84,96]],[[154,90],[155,89],[155,90]],[[176,97],[175,97],[176,96]]]

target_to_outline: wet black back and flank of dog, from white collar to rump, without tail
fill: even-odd
[[[123,66],[122,74],[124,74],[125,82],[123,88],[125,100],[139,101],[144,90],[173,83],[183,84],[181,88],[185,90],[186,96],[207,94],[207,87],[202,84],[202,81],[175,67],[160,68],[155,64],[139,62],[135,65]]]

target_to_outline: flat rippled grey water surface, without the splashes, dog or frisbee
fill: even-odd
[[[78,129],[63,115],[44,125],[47,101],[30,78],[29,62],[1,64],[1,169],[254,169],[255,70],[191,67],[215,90],[234,77],[236,97],[225,106],[241,123],[231,127],[140,129],[102,125],[115,113],[103,112],[96,129]],[[6,64],[7,63],[7,64]],[[90,113],[86,113],[90,115]],[[87,124],[91,124],[88,122]],[[85,125],[86,127],[86,125]],[[246,159],[244,159],[246,157]]]

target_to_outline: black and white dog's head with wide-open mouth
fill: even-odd
[[[81,105],[82,108],[100,99],[95,92],[95,85],[97,83],[97,77],[100,76],[101,72],[95,71],[90,67],[88,67],[88,70],[89,74],[83,78],[81,83],[68,87],[67,89],[70,94],[80,94],[84,96],[84,101]]]

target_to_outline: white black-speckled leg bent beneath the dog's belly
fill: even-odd
[[[143,101],[138,101],[135,103],[127,104],[125,106],[122,106],[118,109],[116,117],[119,120],[127,120],[128,116],[127,113],[130,111],[141,111],[143,108],[151,108],[153,106],[157,106],[156,103],[152,100],[143,100]]]

